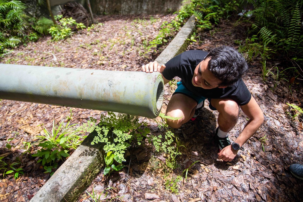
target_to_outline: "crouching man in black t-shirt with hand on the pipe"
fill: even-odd
[[[179,128],[187,121],[194,120],[208,99],[209,108],[217,110],[218,125],[215,143],[220,152],[218,158],[232,161],[242,145],[258,130],[264,121],[263,113],[251,96],[241,76],[248,66],[243,56],[234,48],[221,46],[207,53],[190,50],[177,55],[165,65],[156,61],[142,66],[142,71],[162,74],[164,84],[175,76],[181,78],[166,110],[166,115],[182,117],[167,120],[170,127]],[[237,123],[239,108],[249,118],[243,131],[231,144],[228,132]]]

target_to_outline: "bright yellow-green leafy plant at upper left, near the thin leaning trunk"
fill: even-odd
[[[62,15],[54,16],[56,20],[59,20],[59,24],[49,28],[49,33],[52,35],[53,41],[63,40],[72,35],[71,27],[76,26],[77,29],[86,28],[83,23],[77,23],[72,18],[63,18]]]

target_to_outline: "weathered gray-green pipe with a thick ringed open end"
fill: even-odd
[[[158,72],[0,64],[0,99],[156,118],[163,78]]]

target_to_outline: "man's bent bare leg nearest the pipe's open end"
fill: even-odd
[[[170,127],[179,128],[193,117],[196,107],[197,102],[194,99],[184,94],[174,94],[167,105],[166,115],[181,118],[178,120],[167,119],[167,124]]]

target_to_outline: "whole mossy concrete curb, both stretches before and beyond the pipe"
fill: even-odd
[[[165,64],[174,56],[185,51],[195,27],[191,16],[177,36],[157,57],[159,64]],[[52,177],[30,200],[31,202],[74,202],[104,169],[103,145],[91,145],[96,132],[90,133],[76,151],[59,167]]]

